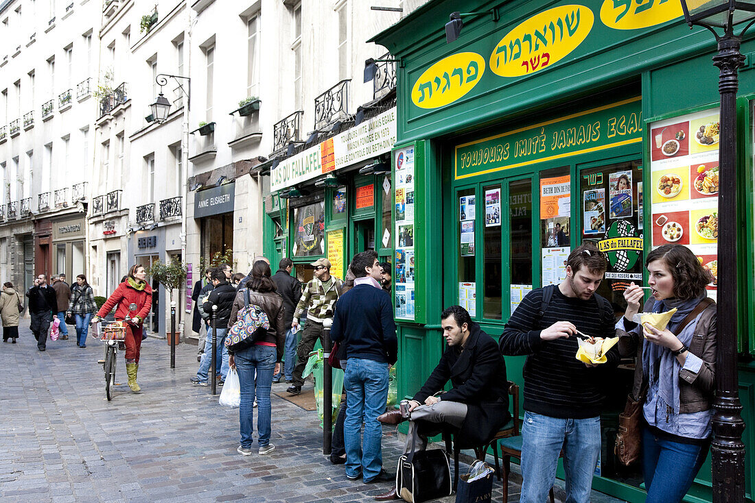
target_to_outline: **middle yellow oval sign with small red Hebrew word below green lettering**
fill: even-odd
[[[594,21],[584,5],[543,11],[501,38],[490,55],[490,69],[501,77],[520,77],[552,66],[579,47]]]

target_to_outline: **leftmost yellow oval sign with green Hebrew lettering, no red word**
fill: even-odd
[[[485,58],[473,52],[451,54],[424,71],[411,88],[411,101],[422,109],[454,103],[477,85]]]

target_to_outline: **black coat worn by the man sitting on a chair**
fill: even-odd
[[[501,426],[511,419],[506,381],[506,363],[495,340],[472,322],[464,351],[446,347],[433,373],[427,378],[414,400],[424,403],[441,391],[451,379],[451,390],[441,400],[467,404],[467,417],[461,425],[457,442],[462,449],[488,442]],[[432,429],[433,425],[422,425]],[[423,431],[424,434],[424,431]]]

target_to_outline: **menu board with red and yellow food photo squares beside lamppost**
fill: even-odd
[[[654,122],[650,127],[652,247],[683,244],[718,281],[719,110]]]

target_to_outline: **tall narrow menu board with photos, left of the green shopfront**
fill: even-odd
[[[414,320],[414,146],[393,151],[396,168],[396,317]]]

